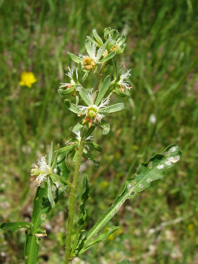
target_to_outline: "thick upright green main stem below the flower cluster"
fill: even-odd
[[[69,258],[70,258],[70,248],[71,248],[71,235],[72,235],[72,229],[73,229],[74,206],[75,206],[75,199],[76,199],[76,185],[78,182],[78,174],[79,174],[79,169],[81,165],[81,158],[82,158],[82,152],[83,152],[83,148],[85,144],[86,133],[87,133],[87,125],[85,125],[83,128],[81,143],[79,146],[78,157],[76,160],[76,166],[75,166],[75,171],[74,171],[74,178],[72,182],[73,188],[71,188],[64,264],[68,264],[70,262]]]

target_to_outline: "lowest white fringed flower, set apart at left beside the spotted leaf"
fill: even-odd
[[[38,182],[39,185],[41,184],[41,182],[47,179],[47,176],[49,174],[52,173],[51,167],[47,165],[45,157],[41,157],[40,161],[38,161],[37,163],[39,166],[35,165],[35,169],[31,169],[30,171],[32,176],[31,180],[33,180],[37,176],[35,182]]]

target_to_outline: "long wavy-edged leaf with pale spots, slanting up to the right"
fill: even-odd
[[[155,154],[148,162],[141,163],[134,178],[126,180],[124,189],[120,195],[117,196],[112,206],[100,217],[83,241],[90,241],[90,239],[117,213],[126,199],[134,198],[138,192],[147,188],[153,180],[162,178],[165,175],[165,171],[179,161],[181,157],[182,152],[180,148],[173,144],[168,146],[162,153]]]

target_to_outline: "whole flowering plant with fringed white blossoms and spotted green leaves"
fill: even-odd
[[[102,134],[106,135],[110,131],[108,115],[113,112],[121,111],[124,103],[113,104],[113,95],[124,98],[129,93],[131,87],[128,79],[131,77],[131,70],[119,66],[117,69],[117,55],[124,52],[126,36],[119,37],[119,32],[111,28],[104,30],[104,41],[93,30],[93,36],[85,40],[85,48],[88,55],[79,54],[76,56],[70,52],[71,60],[77,63],[77,66],[68,67],[66,74],[70,82],[61,83],[58,93],[65,99],[65,105],[68,110],[81,117],[81,120],[72,128],[76,134],[75,138],[66,141],[64,147],[59,148],[53,155],[53,143],[50,145],[48,155],[48,164],[46,156],[41,157],[38,164],[31,170],[32,179],[38,183],[35,199],[33,202],[33,212],[31,223],[20,221],[14,223],[2,223],[1,228],[16,232],[25,227],[25,264],[35,264],[39,251],[39,241],[46,236],[46,231],[40,228],[44,219],[56,203],[62,192],[67,193],[70,189],[69,213],[67,220],[66,246],[64,264],[70,263],[76,256],[84,253],[87,249],[108,238],[119,227],[114,226],[97,235],[105,224],[116,214],[120,206],[126,199],[134,198],[138,192],[150,185],[153,180],[164,176],[165,170],[173,166],[182,157],[180,148],[173,144],[168,146],[162,153],[155,154],[148,162],[142,163],[139,170],[133,177],[125,181],[122,192],[115,198],[114,203],[101,218],[93,225],[90,230],[83,232],[83,225],[86,220],[85,203],[89,198],[90,186],[86,176],[82,179],[81,201],[79,205],[79,219],[77,229],[73,232],[73,220],[75,199],[77,190],[77,181],[81,165],[81,158],[84,154],[86,158],[94,162],[96,168],[99,167],[97,161],[89,153],[90,148],[102,151],[102,148],[93,142],[87,142],[92,139],[92,133],[96,126],[102,128]],[[104,74],[105,67],[113,68],[113,77],[110,75],[104,78],[102,85],[101,77]],[[88,76],[96,77],[95,87],[85,87],[84,81]],[[83,117],[83,118],[82,118]],[[94,124],[95,123],[95,124]],[[82,132],[81,132],[82,131]],[[67,166],[67,157],[72,155],[75,163],[75,170],[72,182],[68,180],[70,171]],[[74,241],[72,235],[76,234]],[[85,234],[85,235],[83,235]],[[71,246],[72,242],[72,246]],[[129,263],[124,261],[120,263]],[[119,263],[118,263],[119,264]]]

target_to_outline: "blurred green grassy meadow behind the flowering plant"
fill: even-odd
[[[133,89],[124,111],[108,116],[110,133],[95,132],[103,148],[93,154],[100,168],[87,168],[84,160],[91,186],[85,229],[111,205],[140,162],[172,143],[182,147],[183,158],[124,204],[109,223],[121,226],[113,237],[74,263],[114,264],[125,258],[138,264],[197,263],[196,0],[0,1],[0,221],[30,219],[36,184],[30,184],[29,171],[48,153],[51,140],[63,146],[73,136],[68,127],[79,120],[57,92],[59,83],[67,82],[67,51],[84,53],[86,35],[94,28],[102,35],[108,26],[127,35],[118,61],[132,69]],[[22,71],[33,71],[38,79],[31,89],[19,86]],[[44,222],[48,236],[41,240],[38,263],[62,263],[67,213],[64,195]],[[24,230],[1,230],[0,242],[0,263],[24,263]]]

